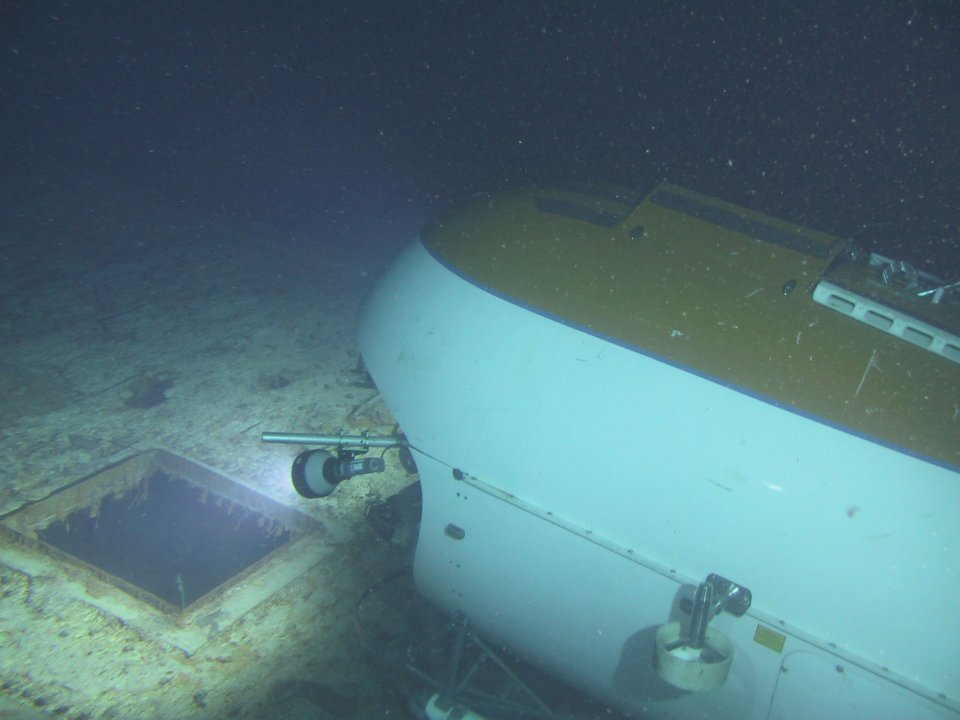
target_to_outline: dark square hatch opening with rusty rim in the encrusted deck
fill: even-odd
[[[166,450],[3,519],[9,535],[179,614],[249,575],[315,521]]]

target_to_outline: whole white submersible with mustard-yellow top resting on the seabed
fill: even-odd
[[[960,717],[956,288],[675,186],[429,226],[360,346],[422,593],[628,712]]]

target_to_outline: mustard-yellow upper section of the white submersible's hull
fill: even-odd
[[[534,312],[960,465],[960,305],[906,263],[669,184],[477,196],[424,242]]]

